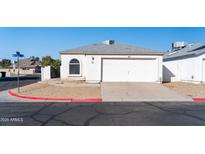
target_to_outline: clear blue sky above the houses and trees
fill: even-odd
[[[205,28],[0,28],[0,59],[12,59],[15,51],[25,57],[59,58],[61,50],[107,39],[167,51],[174,41],[205,43]]]

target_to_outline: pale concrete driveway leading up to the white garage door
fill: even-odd
[[[103,101],[192,101],[159,83],[101,83]]]

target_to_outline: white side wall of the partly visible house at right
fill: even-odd
[[[202,82],[205,55],[163,62],[163,81]]]

